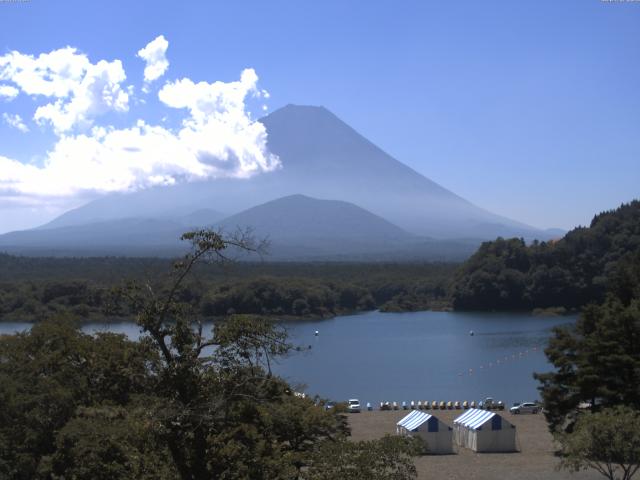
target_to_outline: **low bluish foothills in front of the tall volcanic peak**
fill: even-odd
[[[269,260],[462,260],[477,242],[436,241],[410,234],[354,204],[291,195],[215,221],[216,212],[179,218],[125,218],[12,232],[0,251],[52,256],[176,256],[178,238],[203,226],[233,233],[250,226],[269,241]],[[199,223],[195,224],[195,221]],[[256,259],[253,257],[246,257]]]

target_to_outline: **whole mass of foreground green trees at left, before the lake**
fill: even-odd
[[[0,477],[293,480],[319,475],[319,448],[336,444],[350,452],[345,465],[376,453],[367,478],[412,478],[409,450],[346,443],[338,409],[294,395],[273,375],[273,358],[292,348],[280,327],[231,315],[204,331],[187,278],[200,262],[224,262],[230,248],[256,247],[208,230],[183,238],[192,251],[166,285],[117,292],[136,314],[140,342],[85,335],[67,319],[0,337]]]

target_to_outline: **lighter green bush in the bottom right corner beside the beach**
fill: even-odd
[[[616,407],[582,413],[572,433],[556,436],[561,466],[571,471],[592,468],[610,480],[630,480],[640,468],[640,412]]]

